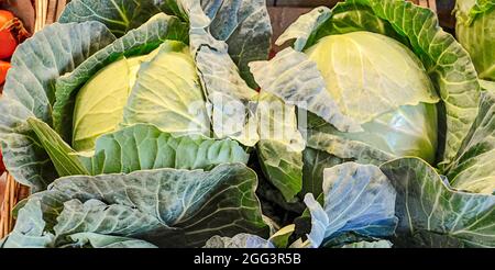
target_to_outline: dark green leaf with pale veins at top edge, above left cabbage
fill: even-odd
[[[58,21],[105,23],[117,36],[124,35],[161,12],[153,0],[73,0],[65,8]]]

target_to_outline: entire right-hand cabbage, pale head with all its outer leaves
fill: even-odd
[[[305,149],[258,155],[262,166],[285,157],[265,177],[297,193],[267,200],[307,207],[296,224],[311,228],[292,247],[495,246],[493,87],[431,10],[348,0],[301,15],[276,42],[286,43],[250,67],[263,92],[295,106],[304,137]],[[483,49],[486,59],[493,49]],[[292,176],[285,185],[280,170]]]

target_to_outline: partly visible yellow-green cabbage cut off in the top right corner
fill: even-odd
[[[457,0],[455,32],[480,78],[495,81],[495,2]]]

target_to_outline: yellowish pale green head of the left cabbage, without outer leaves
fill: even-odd
[[[98,137],[124,125],[124,111],[127,115],[139,117],[134,122],[152,123],[162,127],[161,130],[177,131],[177,125],[180,124],[176,125],[177,121],[170,114],[178,114],[180,109],[169,112],[173,110],[167,102],[173,103],[175,100],[166,100],[164,94],[167,91],[176,92],[177,97],[186,100],[195,93],[196,100],[202,100],[189,47],[182,42],[167,41],[147,55],[122,58],[108,65],[89,79],[76,97],[74,149],[94,150]],[[145,106],[150,106],[147,103],[162,106],[163,114],[157,113],[157,110],[144,113]],[[164,127],[160,123],[170,124]]]

